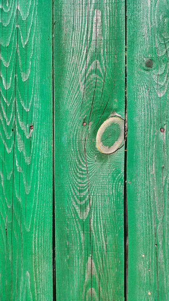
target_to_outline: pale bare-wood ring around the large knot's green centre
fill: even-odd
[[[113,143],[113,145],[107,146],[102,143],[103,141],[106,140],[103,139],[102,136],[110,125],[117,126],[119,128],[119,134],[117,139]],[[100,153],[109,155],[116,152],[116,150],[119,149],[123,144],[124,144],[124,119],[115,115],[105,120],[103,124],[99,127],[96,135],[96,147]]]

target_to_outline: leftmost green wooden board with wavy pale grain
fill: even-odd
[[[52,300],[52,3],[0,3],[0,299]]]

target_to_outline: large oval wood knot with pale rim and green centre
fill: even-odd
[[[124,120],[115,115],[108,118],[98,129],[96,147],[102,154],[112,154],[124,144]]]

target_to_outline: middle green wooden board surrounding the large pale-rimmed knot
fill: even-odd
[[[123,300],[124,11],[124,1],[54,3],[60,301]],[[114,114],[121,116],[122,147],[105,155],[96,148],[96,135]],[[102,143],[110,147],[119,135],[113,122]]]

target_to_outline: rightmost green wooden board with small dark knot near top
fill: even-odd
[[[168,1],[127,2],[129,301],[169,299],[168,13]]]

